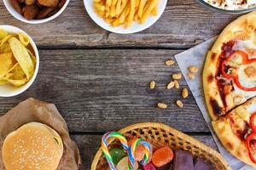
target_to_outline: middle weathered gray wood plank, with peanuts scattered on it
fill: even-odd
[[[35,97],[55,103],[72,132],[105,132],[136,122],[164,122],[183,132],[209,132],[192,95],[166,89],[177,50],[41,50],[36,82],[26,93],[0,99],[0,112]],[[148,83],[154,80],[156,90]],[[180,81],[181,88],[187,87]],[[155,107],[165,102],[168,109]]]

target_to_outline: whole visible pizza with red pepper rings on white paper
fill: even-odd
[[[207,54],[202,79],[218,138],[233,156],[256,167],[256,12],[224,29]]]

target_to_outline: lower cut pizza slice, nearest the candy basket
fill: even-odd
[[[256,97],[213,121],[212,127],[233,156],[256,167]]]

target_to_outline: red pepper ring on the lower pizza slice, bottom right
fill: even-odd
[[[253,163],[256,163],[256,133],[251,133],[247,137],[246,146],[251,161],[253,161]]]

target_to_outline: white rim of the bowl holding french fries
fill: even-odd
[[[93,0],[84,0],[84,6],[87,10],[87,13],[90,15],[90,18],[96,22],[98,26],[101,26],[105,30],[119,33],[119,34],[131,34],[138,31],[143,31],[147,29],[149,26],[152,26],[157,20],[159,20],[160,16],[164,13],[166,8],[167,0],[160,0],[158,4],[158,14],[156,16],[148,17],[148,20],[144,24],[139,24],[138,22],[133,21],[131,27],[124,28],[124,26],[112,27],[103,20],[98,14],[94,12],[93,9]]]

